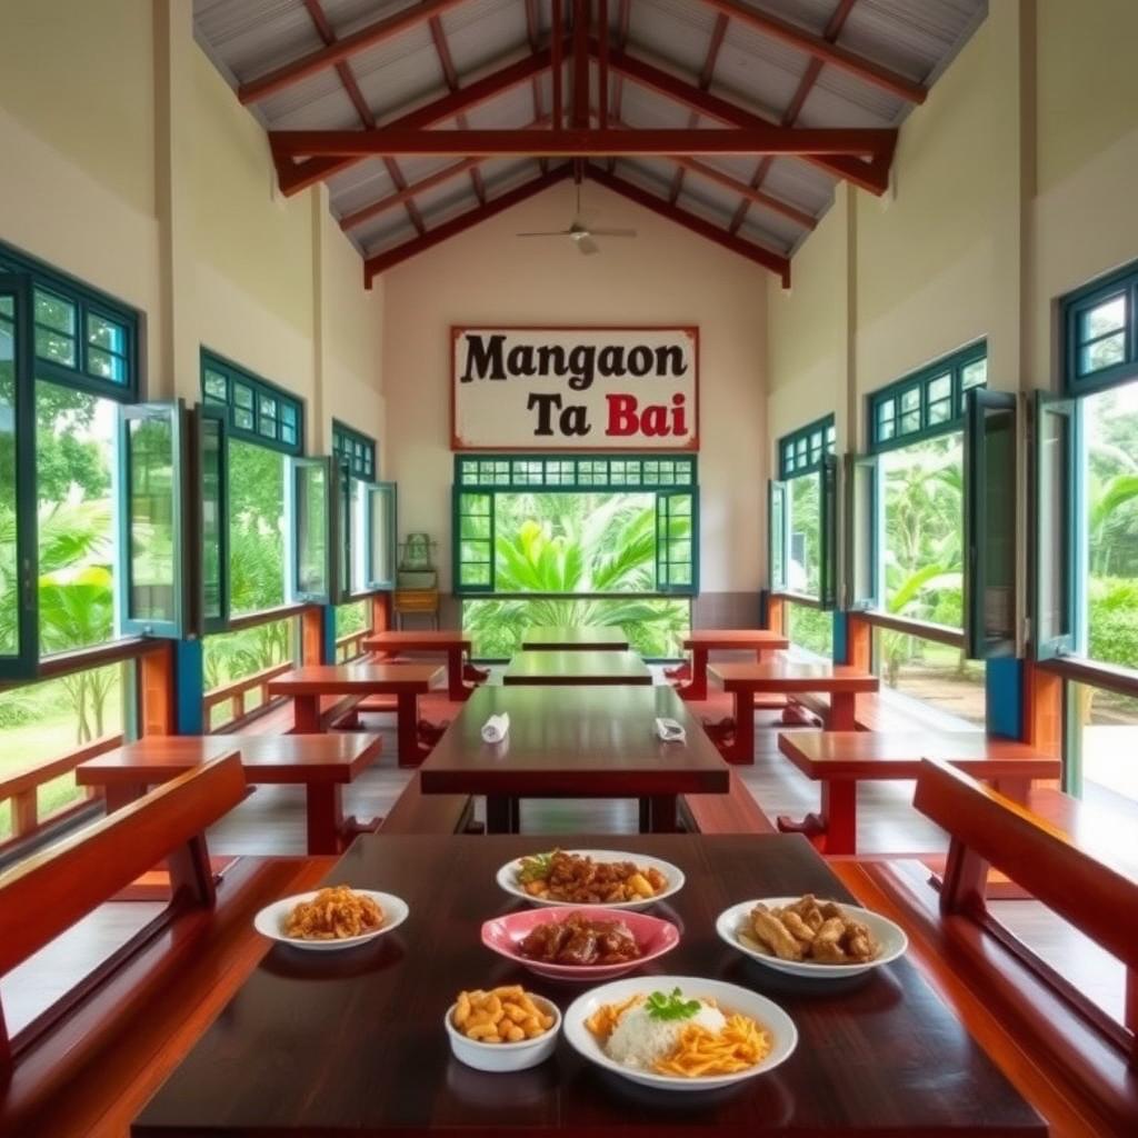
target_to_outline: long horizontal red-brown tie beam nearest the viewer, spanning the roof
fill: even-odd
[[[757,155],[873,158],[892,155],[897,132],[861,127],[783,130],[769,123],[733,130],[426,131],[381,126],[374,131],[270,131],[278,158],[428,154],[461,157],[605,157],[608,155]],[[864,164],[863,164],[864,165]]]

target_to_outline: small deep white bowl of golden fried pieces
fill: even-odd
[[[558,1046],[561,1013],[520,984],[459,992],[444,1019],[451,1050],[478,1071],[525,1071]]]

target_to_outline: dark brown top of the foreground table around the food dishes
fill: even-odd
[[[585,990],[521,971],[479,937],[483,921],[517,908],[495,884],[498,866],[549,848],[550,840],[364,835],[327,880],[402,897],[411,909],[404,925],[345,953],[266,946],[132,1135],[1046,1135],[904,958],[864,982],[806,990],[717,938],[716,916],[748,898],[810,891],[851,900],[806,839],[560,840],[568,848],[652,855],[683,869],[684,889],[650,910],[679,925],[681,943],[650,971],[721,979],[769,996],[800,1033],[786,1063],[711,1095],[646,1092],[593,1066],[563,1038],[554,1056],[530,1071],[486,1074],[463,1066],[443,1026],[460,988],[522,982],[562,1009]]]

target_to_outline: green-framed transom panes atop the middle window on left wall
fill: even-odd
[[[304,454],[304,401],[240,364],[201,349],[201,402],[226,410],[233,438]]]

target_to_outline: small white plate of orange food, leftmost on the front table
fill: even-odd
[[[253,925],[271,940],[318,953],[354,948],[407,920],[407,902],[373,889],[330,885],[266,905]]]

